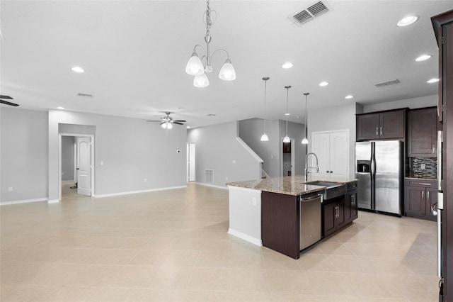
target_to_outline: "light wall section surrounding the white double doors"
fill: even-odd
[[[309,130],[309,152],[311,152],[311,133],[316,131],[349,129],[350,150],[350,177],[355,177],[355,103],[346,103],[342,106],[320,108],[308,113],[307,128]]]

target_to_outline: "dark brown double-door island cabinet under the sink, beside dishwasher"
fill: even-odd
[[[345,198],[336,198],[328,203],[323,203],[323,236],[335,233],[345,226]]]

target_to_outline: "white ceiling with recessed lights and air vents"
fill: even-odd
[[[309,110],[437,94],[437,84],[427,84],[438,66],[430,18],[452,10],[452,1],[326,0],[329,11],[302,26],[287,18],[315,2],[211,0],[211,49],[229,52],[237,78],[218,79],[226,59],[219,52],[210,86],[195,88],[185,64],[204,43],[205,1],[2,0],[1,94],[37,110],[144,120],[173,111],[191,127],[263,118],[262,77],[270,77],[267,118],[285,119],[291,85],[289,121],[297,123],[304,92]],[[396,26],[411,14],[420,19]],[[432,58],[415,62],[422,54]],[[282,69],[287,61],[294,67]],[[394,79],[401,83],[374,86]]]

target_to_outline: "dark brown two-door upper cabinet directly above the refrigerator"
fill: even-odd
[[[406,109],[357,114],[356,140],[404,139]]]

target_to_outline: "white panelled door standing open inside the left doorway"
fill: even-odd
[[[76,138],[77,194],[91,196],[91,138]]]

